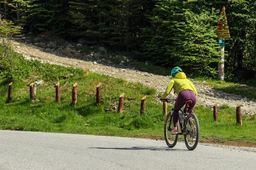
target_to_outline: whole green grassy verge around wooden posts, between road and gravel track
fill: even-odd
[[[110,135],[164,139],[165,116],[156,91],[140,83],[57,65],[19,58],[19,79],[13,82],[13,100],[7,103],[8,82],[0,82],[0,129]],[[0,74],[3,76],[2,74]],[[37,87],[36,99],[29,98],[29,84],[44,80]],[[61,101],[55,102],[54,85],[60,82]],[[78,83],[77,105],[72,105],[72,85]],[[96,105],[96,85],[102,83],[102,104]],[[120,94],[125,93],[123,114],[117,113]],[[140,101],[146,98],[145,115],[140,115]],[[168,106],[168,111],[171,110]],[[256,116],[243,115],[243,126],[236,124],[235,108],[219,107],[218,122],[212,109],[196,106],[200,137],[214,142],[239,140],[256,144]],[[181,136],[182,138],[182,136]]]

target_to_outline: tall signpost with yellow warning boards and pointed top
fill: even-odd
[[[221,51],[220,53],[220,62],[218,63],[218,79],[219,80],[224,80],[224,46],[225,46],[225,38],[230,38],[229,35],[229,30],[228,30],[228,22],[226,18],[226,13],[225,13],[225,7],[222,8],[221,13],[220,13],[220,20],[217,25],[217,30],[215,33],[218,36],[218,43],[220,48],[218,51]]]

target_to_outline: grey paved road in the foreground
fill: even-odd
[[[186,163],[182,163],[185,161]],[[1,170],[255,169],[256,152],[184,142],[0,130]]]

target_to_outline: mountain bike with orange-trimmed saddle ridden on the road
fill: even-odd
[[[172,102],[172,105],[174,106],[176,99],[166,98],[162,99],[161,101],[166,101],[167,103]],[[191,103],[191,100],[186,101],[184,110],[181,108],[179,111],[179,126],[177,127],[178,134],[171,134],[174,127],[172,121],[173,108],[172,111],[167,114],[164,123],[164,138],[167,146],[174,147],[178,141],[178,135],[184,135],[186,147],[189,150],[194,150],[196,148],[199,141],[200,128],[197,116],[194,113],[188,113],[188,108]],[[184,116],[184,123],[181,122],[181,116],[182,118]]]

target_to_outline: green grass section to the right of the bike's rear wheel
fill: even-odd
[[[250,140],[256,144],[255,118],[256,115],[242,116],[243,125],[236,124],[235,108],[219,107],[218,122],[213,120],[212,109],[202,106],[195,108],[199,122],[201,137],[213,138],[216,142],[227,142],[230,140]]]

